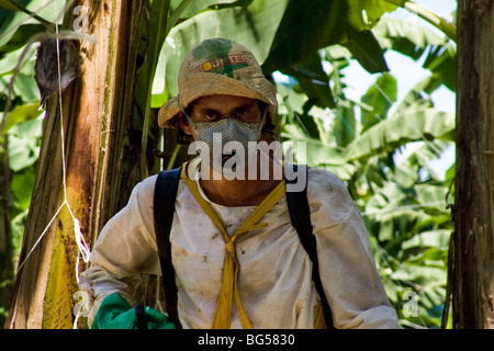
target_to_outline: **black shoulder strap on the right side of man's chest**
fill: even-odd
[[[306,172],[305,180],[308,179],[308,169],[306,166],[291,165],[290,167],[293,167],[293,173],[295,174],[297,168],[304,168]],[[294,183],[296,179],[285,180],[287,184]],[[324,293],[323,283],[321,282],[316,239],[312,234],[313,227],[311,223],[311,208],[308,207],[307,201],[307,181],[305,182],[305,186],[302,191],[289,191],[289,186],[287,188],[287,203],[290,212],[290,217],[292,219],[292,225],[293,227],[295,227],[296,233],[300,237],[300,241],[302,242],[302,246],[304,247],[305,251],[307,251],[308,257],[312,260],[312,279],[314,281],[317,294],[319,294],[321,305],[323,307],[324,318],[326,320],[326,327],[328,329],[334,328],[332,310],[329,308],[326,294]]]

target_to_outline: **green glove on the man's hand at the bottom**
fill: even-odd
[[[146,307],[145,315],[148,329],[175,329],[175,325],[156,309]],[[121,295],[109,295],[101,303],[91,329],[137,329],[135,309]]]

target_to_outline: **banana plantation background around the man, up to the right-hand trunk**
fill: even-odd
[[[218,36],[249,47],[276,82],[285,150],[305,141],[295,160],[346,182],[400,324],[451,328],[456,116],[434,97],[456,92],[456,11],[444,19],[401,0],[117,3],[0,0],[0,325],[72,327],[77,272],[101,226],[137,181],[187,157],[157,127],[157,109],[177,94],[186,53]],[[70,45],[37,52],[57,34]],[[427,75],[398,91],[392,55]]]

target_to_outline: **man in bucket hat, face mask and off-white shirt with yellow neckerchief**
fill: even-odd
[[[283,167],[269,150],[251,147],[272,125],[274,87],[246,47],[222,38],[195,46],[178,81],[179,95],[160,109],[158,122],[179,128],[200,150],[183,166],[170,231],[181,326],[324,327],[312,261],[289,215]],[[233,147],[225,151],[228,143]],[[334,326],[397,328],[353,201],[333,173],[311,168],[307,174],[297,176],[307,185]],[[103,228],[92,267],[81,276],[96,327],[134,327],[139,274],[160,274],[155,183],[153,176],[135,186]],[[150,327],[169,327],[159,316],[149,313]]]

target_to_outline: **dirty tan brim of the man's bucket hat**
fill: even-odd
[[[198,72],[186,78],[179,87],[179,95],[169,99],[158,113],[160,127],[175,127],[171,120],[192,101],[207,95],[222,94],[257,99],[269,105],[278,105],[276,88],[262,75],[250,77],[255,87],[232,79],[224,75]],[[179,100],[180,99],[180,100]]]

